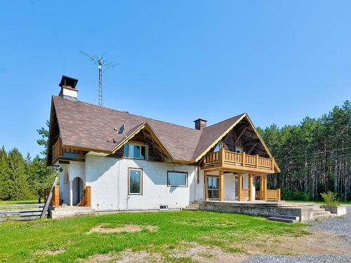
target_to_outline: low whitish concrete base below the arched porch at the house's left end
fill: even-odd
[[[95,215],[95,210],[86,206],[66,206],[60,208],[50,207],[48,216],[52,219],[77,217],[82,215]]]

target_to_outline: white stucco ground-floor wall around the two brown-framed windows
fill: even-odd
[[[143,169],[143,194],[128,195],[128,168]],[[167,171],[188,173],[187,187],[167,187]],[[204,198],[204,177],[197,166],[135,159],[115,159],[86,154],[84,182],[91,185],[91,205],[96,210],[143,210],[168,205],[184,208]]]

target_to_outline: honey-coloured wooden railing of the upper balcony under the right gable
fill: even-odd
[[[258,154],[250,155],[246,153],[237,153],[234,151],[210,152],[204,157],[203,166],[244,166],[257,169],[274,170],[274,159],[260,157]]]

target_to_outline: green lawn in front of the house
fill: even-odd
[[[157,226],[157,231],[114,234],[91,233],[92,227],[109,224]],[[185,242],[215,245],[227,252],[245,252],[237,244],[261,235],[301,236],[303,224],[270,222],[262,217],[210,212],[118,213],[65,220],[0,223],[0,262],[74,262],[91,255],[147,250],[164,256],[166,248]],[[64,250],[58,254],[44,252]],[[176,259],[179,262],[179,259]],[[180,260],[181,261],[181,260]]]

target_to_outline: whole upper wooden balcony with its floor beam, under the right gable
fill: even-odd
[[[274,159],[256,155],[239,154],[233,151],[220,149],[210,152],[204,157],[202,169],[224,168],[239,172],[275,173]]]

